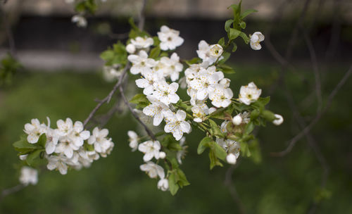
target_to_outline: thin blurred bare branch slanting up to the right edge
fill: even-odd
[[[289,141],[289,146],[287,146],[286,149],[283,151],[279,152],[273,152],[272,156],[277,156],[277,157],[282,157],[287,155],[293,148],[294,145],[298,140],[300,140],[305,134],[310,132],[310,130],[314,127],[314,125],[322,118],[322,115],[326,113],[326,111],[329,109],[330,105],[332,104],[332,100],[334,99],[334,96],[339,92],[339,89],[346,83],[348,80],[348,77],[352,74],[352,65],[351,67],[347,70],[346,74],[344,77],[341,78],[340,82],[337,84],[337,86],[332,90],[332,92],[329,94],[329,97],[327,98],[327,104],[325,105],[325,108],[323,108],[317,115],[315,115],[315,118],[310,122],[309,125],[307,125],[301,132],[299,132],[294,138],[292,138]]]

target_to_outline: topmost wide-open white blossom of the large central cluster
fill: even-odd
[[[169,27],[163,25],[161,26],[161,32],[158,32],[158,38],[160,39],[160,48],[163,51],[176,49],[180,46],[184,39],[180,35],[180,31],[170,29]]]

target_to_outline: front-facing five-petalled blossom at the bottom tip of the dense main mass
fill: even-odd
[[[184,121],[186,119],[186,113],[182,110],[178,110],[177,113],[172,111],[165,111],[164,117],[166,125],[164,131],[167,133],[172,133],[173,137],[178,141],[182,138],[183,133],[191,132],[191,125]]]

